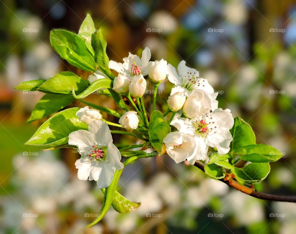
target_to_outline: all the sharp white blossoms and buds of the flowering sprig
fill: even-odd
[[[146,92],[147,82],[145,76],[149,76],[154,83],[154,88],[166,78],[175,85],[167,99],[167,105],[172,113],[182,111],[182,115],[171,119],[169,124],[177,131],[168,133],[163,144],[166,153],[176,163],[187,160],[194,164],[196,160],[204,160],[208,153],[208,147],[216,148],[219,154],[227,154],[232,135],[229,130],[234,124],[229,109],[218,108],[217,93],[204,78],[199,77],[199,72],[186,66],[181,61],[178,68],[174,68],[167,61],[150,61],[150,50],[146,47],[142,52],[142,58],[129,54],[123,58],[123,63],[109,62],[109,68],[118,72],[113,80],[113,90],[130,97],[130,101],[137,111],[127,111],[119,119],[119,126],[127,130],[142,129],[147,119],[142,118],[141,105],[134,104],[133,99],[142,98]],[[88,80],[90,83],[107,78],[100,72],[94,72]],[[144,108],[144,107],[143,107]],[[77,117],[86,124],[87,130],[77,130],[70,133],[69,145],[78,147],[81,158],[75,163],[78,168],[78,178],[82,180],[95,180],[100,188],[108,187],[115,173],[124,167],[121,163],[121,153],[112,143],[112,136],[99,110],[81,108]],[[112,124],[111,124],[112,125]],[[146,129],[147,130],[147,129]]]

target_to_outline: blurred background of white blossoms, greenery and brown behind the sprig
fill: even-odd
[[[110,60],[149,47],[152,60],[175,66],[185,60],[198,69],[220,93],[219,107],[250,123],[257,143],[285,154],[271,163],[257,190],[295,195],[295,1],[0,0],[0,6],[0,233],[296,232],[296,204],[258,200],[167,156],[138,160],[124,171],[119,190],[142,203],[138,210],[119,214],[111,208],[100,224],[85,229],[100,211],[101,191],[77,179],[79,155],[72,149],[24,145],[46,120],[26,122],[43,94],[14,89],[67,70],[87,78],[55,53],[49,32],[77,33],[90,13],[104,31]],[[168,81],[161,85],[160,99],[170,88]],[[116,108],[104,96],[88,101]],[[132,137],[114,141],[136,143]]]

